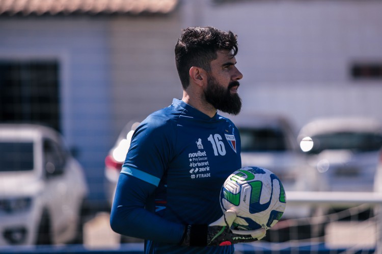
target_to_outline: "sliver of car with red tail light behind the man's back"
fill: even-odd
[[[114,146],[106,155],[104,170],[106,177],[105,192],[110,206],[113,204],[119,173],[121,172],[122,165],[125,162],[126,154],[130,147],[132,134],[135,129],[137,129],[138,125],[139,122],[137,121],[128,122],[119,134]]]

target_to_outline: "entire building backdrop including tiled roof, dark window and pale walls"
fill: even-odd
[[[95,200],[103,199],[103,160],[124,124],[181,97],[174,47],[187,26],[212,25],[238,35],[243,111],[282,113],[297,128],[329,115],[382,121],[380,1],[16,3],[0,0],[0,120],[12,120],[5,114],[9,97],[24,105],[17,116],[23,119],[36,118],[36,111],[47,119],[41,116],[46,103],[56,105],[46,114],[77,147]],[[36,62],[53,70],[40,74],[56,90],[28,76]],[[352,75],[354,66],[367,71],[368,65],[379,74]]]

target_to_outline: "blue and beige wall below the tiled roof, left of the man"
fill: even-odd
[[[104,158],[123,126],[182,96],[178,17],[2,17],[0,33],[0,59],[59,61],[61,129],[102,202]]]

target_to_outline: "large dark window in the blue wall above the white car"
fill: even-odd
[[[0,60],[0,122],[42,123],[60,131],[57,61]]]

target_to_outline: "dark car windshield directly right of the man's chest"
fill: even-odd
[[[241,151],[284,151],[287,149],[285,137],[280,129],[260,128],[239,129]]]

